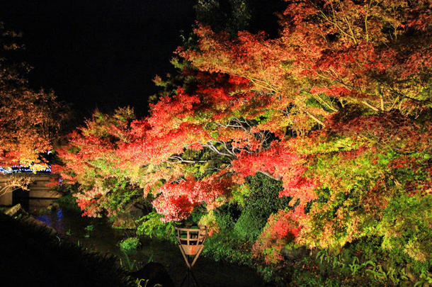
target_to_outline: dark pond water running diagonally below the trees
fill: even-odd
[[[47,205],[50,201],[47,201]],[[43,206],[38,202],[38,206]],[[79,244],[89,250],[101,253],[109,252],[118,257],[118,264],[125,269],[137,270],[149,261],[164,264],[169,275],[180,285],[186,274],[186,264],[178,247],[171,242],[140,237],[142,247],[130,252],[123,252],[118,242],[125,237],[135,236],[134,232],[113,230],[108,220],[103,218],[82,218],[76,213],[57,209],[40,213],[30,205],[33,217],[47,223],[61,235],[62,240]],[[88,227],[88,226],[91,227]],[[200,257],[193,267],[193,272],[200,286],[264,286],[261,278],[253,269],[234,264],[215,262]]]

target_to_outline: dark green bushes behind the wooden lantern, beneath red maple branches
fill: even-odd
[[[235,198],[207,213],[203,206],[195,208],[190,220],[217,230],[205,242],[203,254],[216,261],[254,265],[252,244],[261,234],[268,216],[288,206],[290,198],[279,198],[280,181],[263,174],[250,176],[239,186]]]

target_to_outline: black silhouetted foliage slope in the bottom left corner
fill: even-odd
[[[2,286],[135,286],[115,257],[86,252],[3,213],[0,223]]]

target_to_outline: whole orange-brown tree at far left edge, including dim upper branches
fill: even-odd
[[[55,94],[28,88],[28,64],[14,62],[13,53],[22,49],[21,36],[0,24],[0,166],[30,165],[44,168],[41,154],[52,150],[53,139],[64,120],[64,106]]]

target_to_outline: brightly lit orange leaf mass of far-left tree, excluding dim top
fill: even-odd
[[[60,104],[55,95],[22,88],[19,94],[0,87],[0,166],[39,164],[40,153],[52,149],[52,136],[59,131]],[[56,122],[56,117],[58,122]]]

